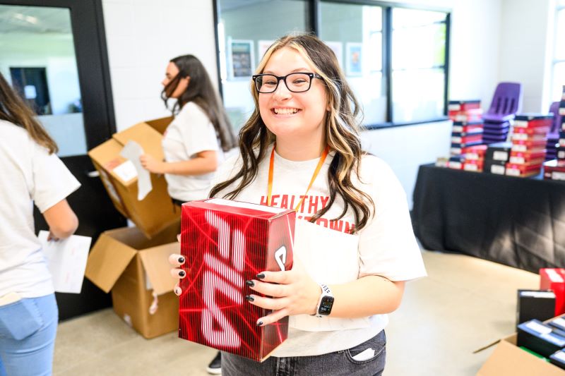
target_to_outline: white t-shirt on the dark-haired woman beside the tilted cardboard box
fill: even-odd
[[[187,161],[206,150],[216,152],[218,164],[224,160],[224,153],[213,124],[194,102],[185,104],[169,124],[162,140],[162,147],[167,162]],[[206,198],[214,175],[213,172],[203,175],[165,174],[169,195],[181,201]]]

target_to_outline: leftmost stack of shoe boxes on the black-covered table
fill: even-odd
[[[475,150],[482,144],[482,109],[480,100],[449,101],[448,116],[453,121],[451,131],[451,157],[447,166],[451,169],[467,169],[468,171],[482,171],[480,155],[484,154]],[[469,162],[465,154],[470,154]],[[481,154],[482,153],[482,154]],[[467,167],[465,168],[465,166]]]

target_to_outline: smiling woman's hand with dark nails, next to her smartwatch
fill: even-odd
[[[288,315],[316,313],[321,288],[296,262],[292,270],[261,272],[256,278],[246,282],[249,289],[266,297],[250,294],[246,299],[253,305],[273,310],[273,313],[259,317],[258,326],[272,324]]]

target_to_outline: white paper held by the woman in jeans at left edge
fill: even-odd
[[[40,231],[37,237],[53,277],[55,291],[81,293],[92,238],[73,235],[60,241],[47,241],[47,236],[49,231]]]

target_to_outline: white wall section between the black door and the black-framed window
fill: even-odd
[[[168,116],[160,99],[170,59],[194,54],[218,83],[212,1],[102,0],[118,131]]]

